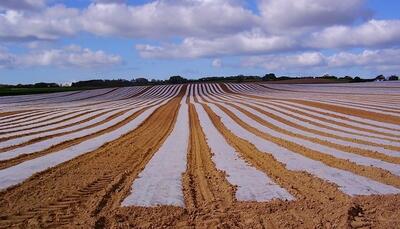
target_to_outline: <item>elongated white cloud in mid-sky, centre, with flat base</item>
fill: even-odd
[[[216,39],[186,38],[180,44],[137,45],[136,49],[145,58],[198,58],[276,52],[291,49],[294,45],[295,41],[287,37],[251,31]]]

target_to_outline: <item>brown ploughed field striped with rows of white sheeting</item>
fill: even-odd
[[[0,97],[0,228],[396,228],[400,83]]]

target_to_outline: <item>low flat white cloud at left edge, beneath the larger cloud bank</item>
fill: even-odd
[[[75,45],[62,49],[34,50],[22,55],[10,54],[5,50],[0,50],[1,68],[40,66],[96,68],[121,63],[122,58],[118,55],[110,55],[102,50],[92,51]]]

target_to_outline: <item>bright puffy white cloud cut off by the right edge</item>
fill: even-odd
[[[384,46],[399,44],[400,20],[370,20],[357,27],[333,26],[312,34],[314,48]]]

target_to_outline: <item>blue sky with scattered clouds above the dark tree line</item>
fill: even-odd
[[[398,0],[1,0],[0,84],[400,74]]]

